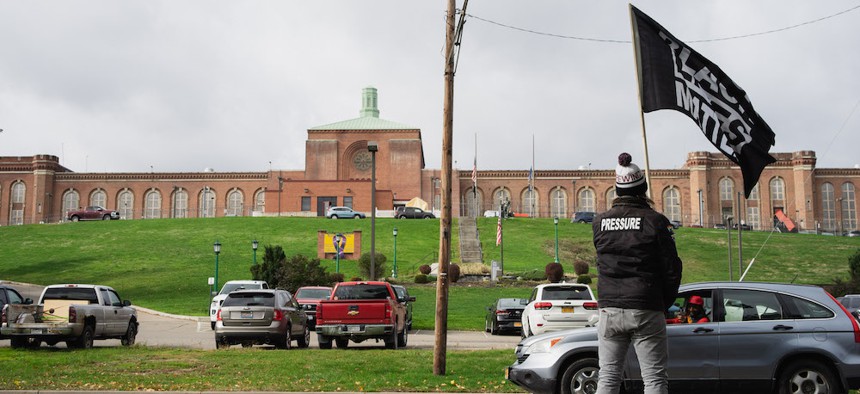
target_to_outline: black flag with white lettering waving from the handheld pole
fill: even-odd
[[[674,109],[693,119],[720,152],[741,167],[749,198],[764,167],[776,161],[770,126],[746,92],[716,64],[630,5],[642,111]]]

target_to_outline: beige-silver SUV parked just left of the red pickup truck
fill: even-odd
[[[218,349],[241,344],[275,345],[289,349],[292,341],[300,348],[311,342],[308,316],[286,290],[236,290],[227,294],[215,325]]]

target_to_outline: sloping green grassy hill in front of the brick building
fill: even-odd
[[[409,284],[419,302],[416,324],[433,325],[435,287],[414,285],[421,264],[435,262],[438,220],[377,219],[376,250],[393,260],[392,229],[398,228],[397,264],[400,280]],[[496,220],[480,218],[484,261],[500,260],[495,246]],[[316,256],[317,231],[361,230],[364,252],[370,249],[370,220],[323,218],[210,218],[160,219],[0,227],[0,279],[36,284],[100,283],[115,287],[135,304],[171,313],[205,315],[209,300],[207,278],[214,275],[212,244],[221,244],[219,281],[247,279],[253,262],[251,241],[280,245],[288,255]],[[591,226],[561,221],[558,226],[560,260],[572,273],[575,258],[594,258]],[[453,231],[453,261],[458,239]],[[732,233],[732,267],[738,278],[737,233]],[[511,219],[505,222],[506,273],[543,271],[555,256],[551,219]],[[748,281],[829,284],[847,278],[847,259],[860,249],[860,238],[744,233],[744,266],[756,256]],[[681,228],[676,232],[684,261],[683,281],[728,279],[727,237],[724,230]],[[333,260],[323,261],[330,272]],[[347,278],[357,275],[355,263],[341,262]],[[592,268],[592,273],[596,270]],[[528,296],[530,288],[458,284],[451,288],[451,328],[481,328],[476,315],[495,297]],[[480,326],[479,326],[480,325]]]

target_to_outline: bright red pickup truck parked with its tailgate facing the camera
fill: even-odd
[[[341,282],[317,307],[320,349],[346,348],[349,341],[381,339],[388,349],[406,347],[406,307],[388,282]]]

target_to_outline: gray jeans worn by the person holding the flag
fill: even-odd
[[[600,379],[597,394],[617,394],[630,344],[636,351],[645,394],[669,392],[666,373],[668,345],[662,312],[641,309],[600,308],[597,325]]]

